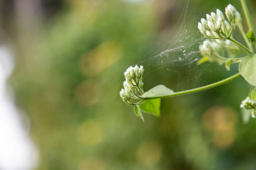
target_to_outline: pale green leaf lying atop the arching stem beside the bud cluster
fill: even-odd
[[[174,94],[174,92],[171,89],[165,87],[164,85],[158,85],[156,87],[151,88],[147,92],[144,92],[142,97],[157,97],[172,94]]]

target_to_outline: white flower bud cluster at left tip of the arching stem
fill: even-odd
[[[124,102],[129,105],[134,105],[133,100],[140,100],[140,96],[143,94],[143,66],[129,67],[125,72],[125,81],[123,82],[123,89],[120,91],[120,97]]]

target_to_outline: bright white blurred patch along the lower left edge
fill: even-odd
[[[0,45],[0,170],[32,170],[38,150],[29,138],[28,117],[15,107],[7,84],[13,66],[10,48]]]

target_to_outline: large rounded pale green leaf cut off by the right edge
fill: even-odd
[[[249,84],[256,86],[256,55],[246,56],[239,64],[239,72]]]

